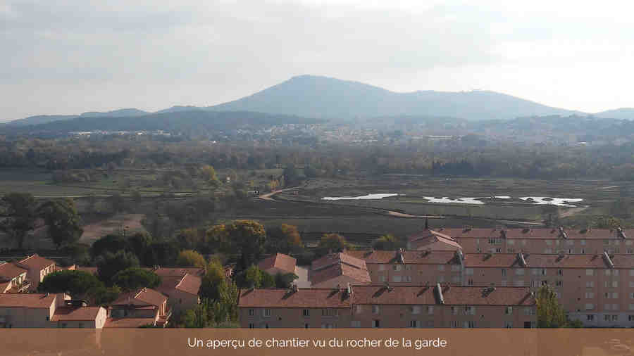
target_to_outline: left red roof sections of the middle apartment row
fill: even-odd
[[[395,263],[397,262],[397,251],[385,250],[354,250],[347,251],[347,254],[366,261],[366,264]],[[419,265],[447,265],[458,263],[454,251],[431,251],[425,253],[420,250],[403,251],[403,258],[406,264]]]

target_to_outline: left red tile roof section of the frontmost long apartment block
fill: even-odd
[[[247,289],[240,291],[238,307],[350,307],[342,291],[311,288],[291,292],[286,289]]]

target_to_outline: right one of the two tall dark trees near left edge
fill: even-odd
[[[75,243],[82,236],[84,230],[73,199],[47,201],[37,211],[48,225],[49,236],[57,248]]]

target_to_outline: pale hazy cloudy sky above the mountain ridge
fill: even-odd
[[[209,106],[302,74],[633,107],[633,13],[632,1],[0,0],[0,121]]]

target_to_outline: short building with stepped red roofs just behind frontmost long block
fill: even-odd
[[[366,262],[347,253],[329,253],[314,260],[309,271],[313,288],[334,288],[349,284],[370,284]]]

